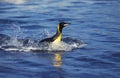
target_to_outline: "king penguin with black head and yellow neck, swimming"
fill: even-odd
[[[66,22],[60,22],[57,26],[57,31],[56,34],[50,38],[46,38],[41,40],[40,42],[48,42],[48,43],[53,43],[53,44],[59,44],[62,39],[62,29],[66,26],[68,26],[70,23]]]

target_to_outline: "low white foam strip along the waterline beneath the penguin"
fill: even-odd
[[[59,46],[53,46],[52,44],[49,44],[49,46],[42,46],[42,47],[20,47],[20,48],[5,48],[5,51],[24,51],[24,52],[30,52],[30,51],[71,51],[75,48],[82,48],[86,44],[67,44],[65,42],[61,42]]]

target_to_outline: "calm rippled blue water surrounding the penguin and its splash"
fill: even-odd
[[[119,0],[0,0],[0,33],[42,39],[60,21],[63,38],[84,41],[66,52],[0,50],[0,78],[120,78]]]

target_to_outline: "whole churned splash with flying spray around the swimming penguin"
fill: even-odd
[[[20,33],[20,27],[14,25],[16,33],[15,35],[10,37],[10,40],[7,41],[6,44],[1,45],[1,49],[5,51],[71,51],[76,48],[81,48],[85,46],[83,41],[73,39],[71,37],[64,38],[59,45],[53,46],[52,43],[41,43],[40,40],[33,40],[33,39],[19,39],[18,35]],[[45,30],[42,34],[42,38],[50,37],[51,34],[49,31]]]

